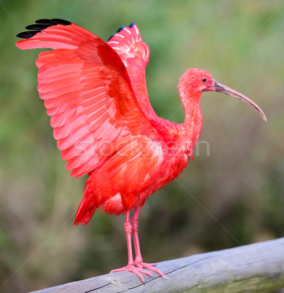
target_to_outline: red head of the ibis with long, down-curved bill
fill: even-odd
[[[230,95],[254,107],[260,113],[262,119],[266,121],[266,117],[258,105],[232,88],[216,82],[212,75],[206,70],[199,68],[188,69],[180,78],[178,90],[180,96],[186,97],[187,99],[199,100],[204,91],[218,91]]]

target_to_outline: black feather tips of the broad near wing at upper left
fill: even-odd
[[[21,38],[21,39],[30,39],[34,37],[37,33],[40,33],[42,30],[45,28],[52,26],[52,25],[57,25],[57,24],[62,24],[62,25],[70,25],[70,21],[65,21],[62,19],[41,19],[35,21],[36,24],[31,24],[26,26],[25,28],[28,29],[29,31],[22,32],[18,34],[16,37]]]

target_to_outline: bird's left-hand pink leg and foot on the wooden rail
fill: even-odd
[[[132,256],[132,243],[131,243],[131,231],[132,227],[130,224],[129,220],[129,210],[126,212],[126,217],[125,217],[125,223],[124,223],[124,229],[125,229],[125,234],[126,234],[126,242],[127,242],[127,251],[128,251],[128,265],[126,267],[123,267],[121,269],[116,269],[112,270],[111,272],[123,272],[123,271],[130,271],[134,272],[144,283],[144,278],[141,273],[146,273],[149,276],[152,276],[151,272],[146,272],[139,267],[135,267],[134,262],[133,262],[133,256]]]

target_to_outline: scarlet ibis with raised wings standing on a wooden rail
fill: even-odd
[[[20,49],[52,48],[39,54],[38,91],[66,169],[89,178],[75,224],[88,223],[96,209],[126,214],[128,265],[111,272],[152,276],[155,264],[144,263],[138,240],[138,216],[145,200],[174,180],[187,166],[202,128],[200,97],[218,91],[253,106],[237,91],[217,83],[205,70],[191,68],[180,78],[179,99],[185,120],[158,117],[148,98],[145,68],[150,50],[136,24],[122,26],[108,42],[60,19],[38,20],[17,37]],[[130,221],[130,211],[134,209]],[[131,233],[135,248],[132,257]]]

